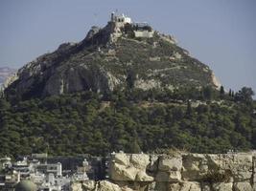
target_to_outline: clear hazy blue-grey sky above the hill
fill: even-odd
[[[19,68],[81,41],[115,10],[175,35],[225,89],[256,91],[256,0],[0,0],[0,66]]]

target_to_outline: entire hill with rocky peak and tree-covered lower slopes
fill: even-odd
[[[256,148],[253,91],[225,93],[173,37],[129,21],[112,15],[18,71],[0,98],[0,156]]]

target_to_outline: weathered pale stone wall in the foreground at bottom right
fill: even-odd
[[[74,183],[73,190],[256,191],[256,155],[118,153],[109,180]]]

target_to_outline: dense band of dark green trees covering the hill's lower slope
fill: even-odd
[[[250,88],[229,96],[209,87],[142,91],[128,84],[126,91],[107,95],[83,92],[18,102],[1,98],[0,155],[256,148]]]

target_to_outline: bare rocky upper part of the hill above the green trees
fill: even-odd
[[[6,94],[28,99],[88,90],[105,94],[115,88],[182,86],[220,84],[208,66],[178,47],[170,35],[150,26],[109,21],[103,29],[93,27],[81,42],[64,43],[25,65]]]

